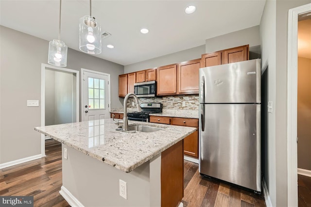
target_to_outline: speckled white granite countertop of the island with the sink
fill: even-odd
[[[155,132],[116,131],[112,119],[35,127],[54,140],[99,159],[126,173],[152,159],[196,130],[155,123],[128,121],[131,125],[161,127]]]

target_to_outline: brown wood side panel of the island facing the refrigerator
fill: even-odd
[[[184,197],[183,140],[161,153],[161,207],[177,207]]]

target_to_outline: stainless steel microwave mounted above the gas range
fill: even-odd
[[[156,81],[134,83],[134,94],[137,97],[155,97]]]

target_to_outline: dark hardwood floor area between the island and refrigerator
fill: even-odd
[[[185,160],[184,207],[265,207],[263,195],[203,177],[199,165]]]

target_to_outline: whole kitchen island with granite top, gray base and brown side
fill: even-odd
[[[183,139],[196,128],[129,121],[132,125],[161,129],[120,132],[112,119],[35,128],[62,143],[60,193],[71,206],[178,205],[183,196]],[[126,199],[119,193],[120,180],[127,183]]]

